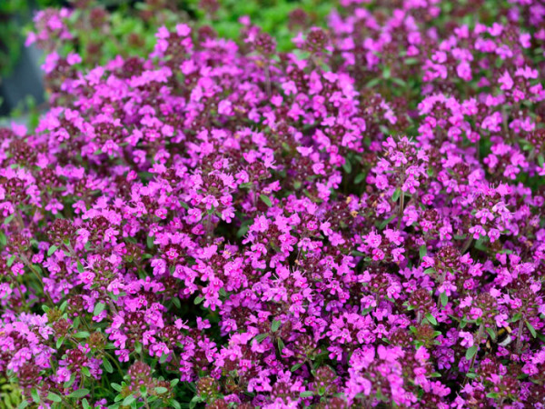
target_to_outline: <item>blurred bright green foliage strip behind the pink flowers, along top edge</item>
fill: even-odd
[[[293,27],[290,30],[288,27],[292,11],[302,9],[309,26],[318,25],[318,22],[323,24],[335,2],[224,0],[213,13],[204,10],[199,0],[169,2],[169,9],[151,4],[137,2],[128,5],[121,1],[94,0],[86,8],[76,9],[68,22],[74,41],[64,44],[62,54],[77,52],[89,66],[104,64],[116,55],[148,55],[154,48],[155,34],[160,26],[172,29],[183,22],[196,26],[210,25],[218,35],[238,40],[243,27],[239,19],[245,15],[250,17],[253,25],[259,25],[263,31],[273,35],[281,51],[288,51],[293,48],[292,37],[302,29]],[[105,15],[104,25],[93,25],[91,11],[96,7],[104,8],[104,5],[112,10],[111,13]]]

